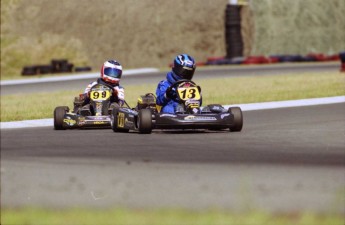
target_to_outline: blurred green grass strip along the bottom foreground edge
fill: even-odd
[[[225,210],[187,209],[2,209],[1,224],[25,225],[343,225],[341,215],[315,213],[269,214],[253,211],[230,213]]]

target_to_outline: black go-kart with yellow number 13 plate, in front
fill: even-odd
[[[171,88],[176,91],[178,107],[174,114],[161,113],[151,93],[141,96],[135,110],[116,108],[112,112],[111,127],[114,132],[137,130],[151,133],[152,129],[208,129],[239,132],[243,126],[239,107],[225,109],[212,104],[201,107],[200,87],[190,80],[180,80]]]

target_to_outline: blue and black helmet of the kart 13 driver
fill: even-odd
[[[195,72],[195,60],[187,54],[176,56],[172,71],[181,79],[191,80]]]

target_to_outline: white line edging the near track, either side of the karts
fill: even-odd
[[[286,107],[299,107],[299,106],[312,106],[312,105],[325,105],[345,103],[344,96],[328,97],[328,98],[312,98],[312,99],[301,99],[301,100],[289,100],[279,102],[262,102],[262,103],[249,103],[249,104],[238,104],[238,105],[225,105],[225,108],[231,106],[238,106],[242,111],[262,110],[262,109],[276,109]],[[14,122],[1,122],[0,129],[12,129],[12,128],[27,128],[27,127],[52,127],[54,126],[54,120],[51,119],[40,119],[40,120],[24,120]]]

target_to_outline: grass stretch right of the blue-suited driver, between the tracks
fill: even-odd
[[[205,103],[254,103],[345,95],[345,76],[334,73],[224,78],[198,82]]]

